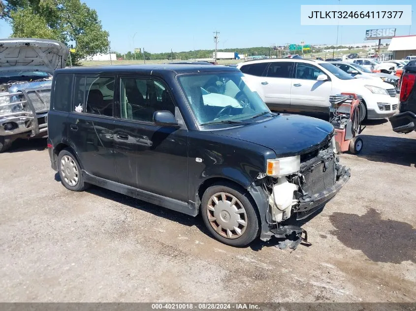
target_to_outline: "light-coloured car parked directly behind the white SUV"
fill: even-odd
[[[399,90],[397,88],[397,82],[399,81],[399,77],[395,75],[390,75],[388,73],[382,72],[372,72],[371,70],[355,63],[348,63],[344,61],[331,61],[330,63],[334,66],[337,66],[346,73],[350,74],[352,77],[377,81],[381,80],[385,83],[393,85],[394,88],[396,88],[396,91]]]

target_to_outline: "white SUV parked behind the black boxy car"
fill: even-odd
[[[399,99],[392,85],[354,79],[326,61],[264,59],[239,63],[237,68],[274,111],[327,114],[329,96],[342,92],[363,97],[368,119],[389,117],[398,110]]]

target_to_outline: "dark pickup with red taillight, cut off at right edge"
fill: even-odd
[[[396,133],[416,131],[416,60],[403,68],[400,86],[400,113],[390,117]]]

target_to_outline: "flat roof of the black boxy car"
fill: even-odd
[[[235,67],[229,66],[207,66],[198,64],[152,64],[152,65],[105,65],[91,67],[66,67],[55,71],[58,73],[75,74],[97,74],[97,73],[150,73],[171,72],[174,74],[194,73],[194,72],[218,72],[218,71],[239,71]]]

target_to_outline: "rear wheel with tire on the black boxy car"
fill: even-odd
[[[64,149],[58,156],[58,172],[61,183],[66,189],[72,191],[83,191],[87,184],[81,173],[81,166],[76,157],[68,150]]]

